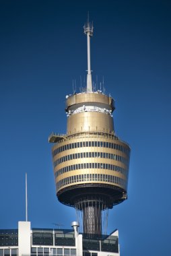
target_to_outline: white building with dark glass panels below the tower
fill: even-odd
[[[118,230],[101,238],[71,230],[31,228],[30,222],[18,222],[18,229],[0,230],[0,256],[120,256]]]

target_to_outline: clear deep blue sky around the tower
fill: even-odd
[[[70,228],[48,135],[65,133],[65,96],[86,75],[83,24],[90,11],[93,79],[116,100],[116,134],[131,145],[128,200],[109,212],[121,256],[170,256],[171,2],[1,1],[0,228]]]

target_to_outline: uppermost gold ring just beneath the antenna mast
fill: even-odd
[[[66,111],[69,106],[73,104],[83,104],[83,102],[99,102],[103,104],[110,105],[112,111],[114,110],[114,100],[111,97],[108,97],[104,94],[100,94],[97,92],[90,93],[81,93],[69,96],[66,100]]]

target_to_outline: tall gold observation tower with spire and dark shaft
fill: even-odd
[[[90,38],[93,25],[83,27],[88,42],[86,91],[66,96],[67,133],[52,133],[57,197],[75,207],[83,233],[100,236],[104,216],[114,205],[127,199],[130,147],[114,132],[114,100],[92,88]],[[105,215],[106,214],[106,215]]]

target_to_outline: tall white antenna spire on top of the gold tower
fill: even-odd
[[[89,22],[89,13],[88,13],[88,21],[83,26],[84,34],[87,35],[88,39],[88,75],[87,75],[87,92],[92,92],[92,73],[90,66],[90,36],[93,35],[93,24]]]

